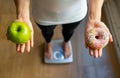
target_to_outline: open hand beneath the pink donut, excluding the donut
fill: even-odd
[[[94,56],[95,58],[98,58],[98,57],[102,56],[102,49],[103,48],[99,48],[99,49],[94,48],[93,49],[87,44],[87,35],[88,35],[89,31],[91,29],[96,28],[96,27],[102,27],[108,32],[109,42],[112,42],[113,38],[112,38],[112,35],[111,35],[109,29],[107,28],[107,26],[103,22],[101,22],[101,21],[97,22],[97,21],[93,21],[93,20],[90,20],[90,21],[87,22],[87,26],[86,26],[86,29],[85,29],[85,45],[86,45],[86,48],[89,49],[89,54],[91,56]]]

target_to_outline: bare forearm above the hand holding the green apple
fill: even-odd
[[[17,19],[30,18],[30,0],[14,0]]]

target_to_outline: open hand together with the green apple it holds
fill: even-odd
[[[26,27],[25,24],[29,27]],[[7,31],[8,39],[16,43],[16,51],[20,53],[24,53],[25,50],[30,52],[30,48],[34,45],[33,35],[34,31],[30,20],[17,19],[8,27]]]

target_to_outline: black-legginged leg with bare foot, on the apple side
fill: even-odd
[[[51,44],[51,39],[54,33],[54,28],[56,27],[55,25],[51,26],[42,26],[38,25],[41,29],[42,35],[46,41],[45,45],[45,57],[51,59],[52,58],[52,44]]]

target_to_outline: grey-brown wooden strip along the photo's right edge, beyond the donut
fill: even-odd
[[[114,46],[116,54],[120,64],[120,6],[118,5],[120,0],[107,0],[103,6],[104,14],[107,19],[107,23],[114,38]]]

